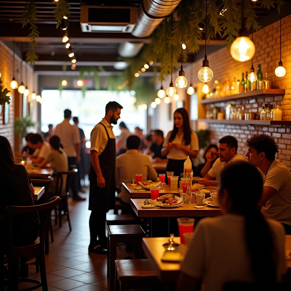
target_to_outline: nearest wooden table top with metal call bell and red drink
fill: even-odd
[[[165,251],[163,244],[168,243],[168,239],[168,237],[144,237],[143,250],[146,257],[152,262],[160,281],[176,282],[180,263],[162,262],[162,255]],[[175,242],[180,244],[180,237],[175,237]],[[178,250],[183,256],[187,252],[187,246],[180,245]],[[291,235],[285,235],[285,250],[291,252]],[[291,260],[286,261],[286,267],[291,268]]]

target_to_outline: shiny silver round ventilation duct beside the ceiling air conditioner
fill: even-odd
[[[139,38],[150,36],[180,2],[181,0],[142,0],[138,8],[136,26],[131,34]],[[122,43],[118,47],[118,54],[132,58],[140,52],[143,45],[143,43]]]

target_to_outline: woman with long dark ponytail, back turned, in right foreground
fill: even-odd
[[[280,281],[286,271],[281,223],[265,219],[257,204],[262,178],[247,162],[226,166],[219,178],[222,216],[201,219],[181,265],[178,290],[221,291],[229,281]]]

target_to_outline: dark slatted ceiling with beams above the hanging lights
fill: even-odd
[[[182,0],[183,1],[183,0]],[[194,1],[194,0],[193,0]],[[256,2],[256,12],[259,15],[260,25],[265,26],[279,19],[278,12],[266,12],[259,8],[261,0]],[[118,61],[118,46],[125,41],[136,40],[130,33],[84,33],[80,27],[80,6],[87,5],[106,5],[106,6],[136,6],[141,0],[120,0],[120,1],[94,1],[94,0],[68,0],[70,4],[70,17],[68,19],[68,31],[72,49],[77,58],[77,67],[84,65],[102,65],[105,71],[117,71],[113,64]],[[0,40],[15,44],[25,59],[25,54],[29,50],[28,28],[22,28],[21,16],[26,1],[24,0],[0,0]],[[61,39],[63,32],[56,29],[56,20],[54,18],[55,4],[52,0],[36,1],[37,4],[37,26],[40,31],[40,38],[37,40],[38,46],[35,48],[39,60],[36,62],[35,69],[40,72],[62,71],[62,65],[70,65],[70,59],[67,55],[67,49]],[[290,6],[288,6],[290,8]],[[289,9],[288,8],[288,9]],[[288,10],[287,9],[287,10]],[[290,14],[290,11],[283,13]],[[148,43],[148,38],[138,39],[140,42]],[[208,52],[221,47],[223,43],[215,45],[212,48],[207,46]],[[201,56],[199,56],[201,57]],[[190,61],[195,56],[189,56]]]

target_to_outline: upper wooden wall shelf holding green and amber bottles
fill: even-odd
[[[200,104],[210,104],[210,103],[219,103],[230,100],[244,99],[244,98],[258,98],[258,97],[269,97],[269,96],[278,96],[285,95],[285,89],[260,89],[249,91],[246,93],[240,93],[236,95],[230,95],[226,97],[211,98],[200,100]]]

